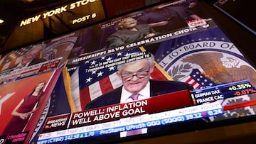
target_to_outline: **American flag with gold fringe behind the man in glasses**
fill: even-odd
[[[95,65],[100,65],[102,62],[117,60],[132,52],[134,50],[117,52],[113,55],[86,61],[80,65],[79,69],[71,76],[73,99],[78,111],[82,111],[88,102],[96,99],[98,96],[122,86],[122,81],[117,76],[117,65],[104,67],[99,70],[93,70],[93,68],[90,69],[89,67],[95,67]],[[170,76],[156,64],[154,72],[151,73],[151,79],[170,79]]]

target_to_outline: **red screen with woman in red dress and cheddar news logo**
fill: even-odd
[[[1,84],[1,143],[29,143],[31,139],[38,137],[49,109],[50,94],[60,72],[61,70],[54,70]]]

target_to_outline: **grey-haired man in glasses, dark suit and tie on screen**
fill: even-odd
[[[122,80],[122,87],[90,101],[85,109],[94,109],[111,104],[130,102],[133,101],[131,98],[133,94],[139,94],[137,99],[148,99],[151,96],[159,96],[161,94],[177,92],[184,89],[193,89],[190,84],[184,82],[150,79],[150,74],[154,70],[154,55],[150,55],[151,57],[118,65],[117,75]],[[147,128],[142,129],[142,133],[148,133],[149,131],[150,130],[147,130]],[[122,132],[121,137],[122,136],[125,137],[126,132]]]

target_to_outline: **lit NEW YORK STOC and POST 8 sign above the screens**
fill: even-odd
[[[55,9],[43,10],[35,16],[21,20],[20,27],[43,21],[44,23],[63,23],[71,28],[77,28],[76,25],[85,26],[105,19],[105,13],[101,1],[82,0],[75,1]]]

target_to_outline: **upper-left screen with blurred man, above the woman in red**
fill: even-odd
[[[0,84],[63,67],[77,39],[74,32],[6,53],[0,60]]]

